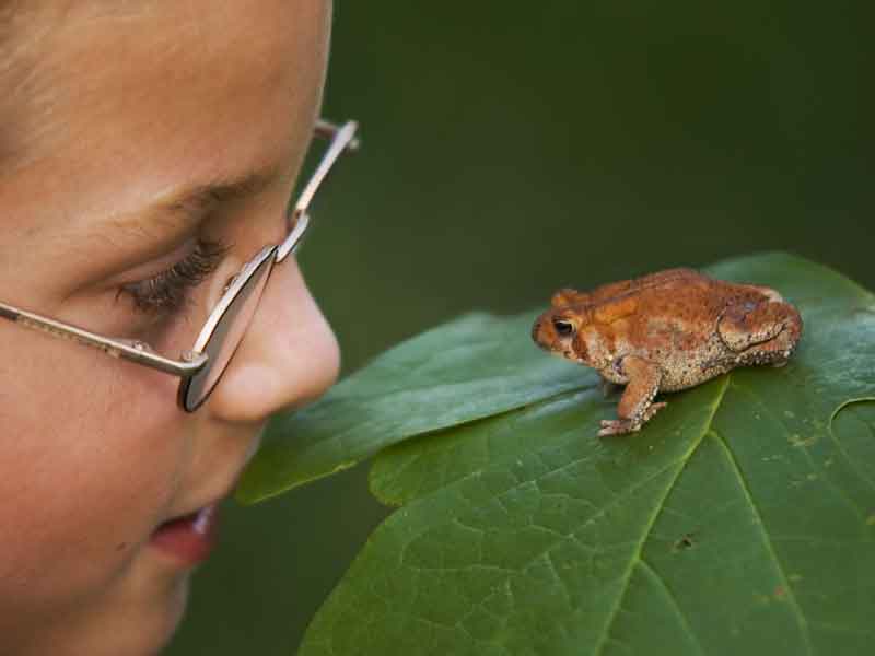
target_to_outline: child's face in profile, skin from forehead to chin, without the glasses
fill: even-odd
[[[21,4],[0,28],[0,301],[176,359],[229,277],[285,235],[330,7]],[[167,200],[253,173],[261,184],[238,198]],[[198,239],[229,247],[218,269],[179,308],[138,311],[131,283]],[[158,527],[228,495],[268,414],[337,368],[291,258],[194,414],[177,378],[0,321],[0,652],[155,653],[203,547],[191,527],[176,541]]]

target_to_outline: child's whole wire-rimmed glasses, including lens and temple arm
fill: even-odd
[[[273,267],[294,253],[301,244],[310,225],[310,204],[319,185],[343,152],[358,149],[357,129],[355,121],[347,121],[342,126],[336,126],[322,119],[316,122],[316,136],[330,138],[331,141],[289,213],[289,235],[281,244],[261,248],[231,279],[222,297],[198,333],[195,345],[190,351],[183,352],[179,360],[160,355],[149,344],[141,341],[105,337],[5,303],[0,303],[0,318],[100,349],[108,355],[122,358],[165,374],[178,376],[182,378],[177,394],[179,406],[186,412],[194,412],[215,389],[237,347],[243,341],[243,336],[255,316],[261,293]]]

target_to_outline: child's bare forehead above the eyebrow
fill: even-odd
[[[180,184],[293,169],[303,153],[327,3],[62,2],[15,20],[0,173],[71,219],[136,211]]]

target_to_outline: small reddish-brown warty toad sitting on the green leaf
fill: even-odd
[[[782,366],[802,317],[774,290],[667,269],[596,288],[560,290],[532,337],[541,348],[626,385],[617,420],[599,435],[638,431],[665,402],[658,391],[693,387],[736,366]]]

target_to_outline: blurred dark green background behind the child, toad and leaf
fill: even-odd
[[[755,250],[875,288],[872,7],[338,2],[325,115],[364,143],[301,261],[345,372],[472,308]],[[365,476],[226,507],[167,653],[293,654],[384,515]]]

